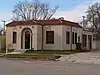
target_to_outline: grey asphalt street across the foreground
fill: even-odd
[[[0,75],[100,75],[100,65],[0,58]]]

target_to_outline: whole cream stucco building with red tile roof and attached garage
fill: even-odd
[[[76,43],[92,49],[91,32],[83,31],[78,24],[66,20],[13,21],[6,25],[6,46],[16,50],[75,50]]]

